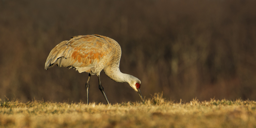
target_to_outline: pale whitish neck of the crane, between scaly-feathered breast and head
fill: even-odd
[[[106,68],[104,72],[110,79],[119,83],[130,83],[133,78],[129,74],[122,73],[119,68]]]

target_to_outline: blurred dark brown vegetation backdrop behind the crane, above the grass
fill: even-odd
[[[86,102],[88,73],[44,70],[52,48],[99,34],[122,48],[120,70],[179,101],[256,100],[256,1],[0,0],[0,98]],[[140,101],[127,83],[101,73],[110,103]],[[89,102],[105,99],[96,76]]]

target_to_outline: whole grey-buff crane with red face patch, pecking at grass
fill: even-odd
[[[99,89],[109,104],[100,82],[100,72],[102,70],[110,79],[116,82],[128,83],[144,102],[140,91],[141,81],[132,75],[120,72],[120,58],[120,45],[109,37],[96,34],[74,36],[68,41],[62,41],[51,50],[45,62],[45,70],[57,65],[59,67],[75,68],[79,73],[89,73],[86,82],[87,104],[89,104],[89,80],[91,75],[94,74],[98,76]]]

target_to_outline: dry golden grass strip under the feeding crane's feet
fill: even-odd
[[[173,102],[155,94],[111,105],[1,100],[0,127],[256,127],[256,102]]]

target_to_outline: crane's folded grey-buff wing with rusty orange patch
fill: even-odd
[[[97,65],[111,48],[108,42],[99,36],[76,36],[62,41],[53,48],[46,60],[45,69],[57,65],[59,67],[75,67],[79,72],[89,71]]]

